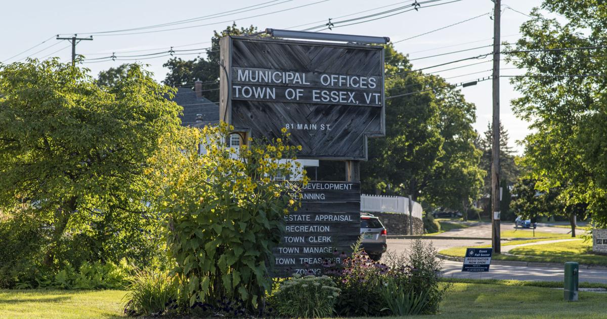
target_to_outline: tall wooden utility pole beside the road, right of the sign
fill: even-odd
[[[500,245],[500,13],[501,0],[493,0],[493,146],[491,148],[491,244]]]

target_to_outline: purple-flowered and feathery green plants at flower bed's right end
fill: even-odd
[[[359,243],[352,258],[343,262],[337,277],[341,294],[337,314],[344,317],[436,314],[449,285],[439,285],[441,259],[432,242],[413,241],[406,253],[388,252],[385,264],[371,261]]]

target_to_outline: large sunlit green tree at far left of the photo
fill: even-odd
[[[58,59],[0,66],[0,208],[29,204],[44,219],[46,266],[80,234],[123,253],[155,238],[143,170],[158,136],[179,125],[171,89],[139,65],[112,87],[86,72]]]

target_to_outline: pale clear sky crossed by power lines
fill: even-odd
[[[418,2],[422,1],[424,0],[418,0]],[[450,1],[453,0],[439,0],[426,5]],[[259,5],[258,7],[261,8],[257,10],[236,10],[265,2],[267,3]],[[293,30],[302,30],[307,27],[325,24],[329,18],[333,22],[341,21],[396,9],[404,5],[410,5],[412,2],[413,0],[2,1],[2,10],[0,11],[0,38],[2,39],[0,61],[2,63],[11,63],[23,61],[27,57],[59,57],[63,61],[70,61],[71,47],[69,41],[57,40],[55,39],[55,35],[59,33],[61,36],[69,37],[73,33],[77,33],[79,37],[87,37],[90,33],[95,33],[92,41],[81,41],[76,46],[76,53],[85,56],[86,60],[84,62],[86,64],[83,65],[91,70],[93,76],[97,76],[101,70],[108,69],[109,67],[117,67],[126,62],[140,61],[141,63],[149,64],[146,68],[154,72],[154,77],[160,81],[164,79],[167,72],[162,64],[169,57],[158,55],[142,60],[136,60],[137,58],[135,57],[124,57],[125,59],[133,60],[103,61],[102,59],[101,62],[90,59],[109,57],[114,52],[118,57],[161,51],[168,52],[173,47],[174,50],[191,50],[183,52],[191,53],[190,55],[180,56],[185,60],[191,60],[197,56],[198,52],[202,52],[202,55],[206,56],[203,48],[211,45],[209,41],[213,35],[213,31],[225,29],[226,26],[232,24],[232,21],[236,22],[238,26],[253,25],[259,27],[259,29],[292,28]],[[501,41],[516,41],[520,36],[519,27],[521,23],[529,19],[523,13],[531,12],[533,7],[537,7],[540,4],[541,0],[503,0]],[[376,19],[375,21],[343,27],[339,26],[347,24],[346,22],[335,24],[336,27],[333,30],[324,30],[323,32],[388,36],[393,42],[399,41],[395,43],[395,48],[399,52],[409,55],[415,69],[491,52],[491,47],[483,47],[465,52],[441,55],[442,53],[492,44],[493,20],[489,18],[493,9],[493,2],[491,0],[460,0],[433,7],[426,7],[426,5],[422,5],[418,10],[410,10],[409,12]],[[248,11],[243,12],[245,10]],[[223,13],[226,16],[216,18],[209,16],[222,12],[228,13]],[[357,14],[351,15],[353,13]],[[483,15],[485,13],[486,15]],[[256,15],[263,16],[255,17]],[[178,30],[125,35],[118,34],[160,29],[98,33],[164,24],[204,16],[207,17],[199,21],[160,28],[175,29],[186,27]],[[344,17],[339,18],[341,16]],[[467,19],[469,21],[461,22]],[[457,22],[461,23],[450,26]],[[305,26],[300,26],[303,24]],[[430,32],[443,27],[446,28]],[[422,35],[422,33],[427,34]],[[405,40],[400,41],[403,39]],[[42,41],[46,42],[42,43]],[[37,44],[39,45],[36,46]],[[21,53],[33,46],[36,47]],[[18,55],[18,53],[21,54]],[[13,57],[15,55],[16,57]],[[429,57],[431,55],[441,56]],[[492,67],[492,63],[478,63],[474,66],[461,67],[454,70],[445,69],[489,61],[490,59],[489,55],[489,57],[482,60],[468,60],[448,64],[447,66],[428,69],[427,72],[441,71],[435,74],[441,75],[450,83],[476,80],[477,78],[487,77],[491,74],[490,68]],[[501,74],[523,74],[523,70],[510,69],[513,67],[503,61],[501,63]],[[476,123],[474,124],[474,128],[481,133],[486,131],[487,124],[492,118],[491,82],[482,81],[476,86],[461,89],[466,100],[476,105]],[[509,145],[520,154],[522,147],[517,145],[516,141],[523,139],[529,133],[529,129],[527,128],[528,123],[516,118],[511,111],[510,100],[517,96],[518,93],[510,85],[509,79],[501,78],[500,118],[504,127],[509,132]]]

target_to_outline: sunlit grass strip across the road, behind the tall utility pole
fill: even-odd
[[[527,242],[548,241],[552,239],[536,239],[529,241],[502,242],[502,246],[526,244]],[[491,247],[478,246],[480,248]],[[591,242],[583,240],[554,242],[552,244],[539,244],[517,247],[510,250],[509,254],[515,255],[493,255],[493,260],[511,261],[534,261],[534,262],[566,262],[577,261],[587,265],[607,265],[607,256],[594,255],[589,252],[592,248]],[[466,247],[454,247],[441,250],[439,253],[447,256],[463,257],[466,255]],[[607,297],[607,296],[606,296]]]

